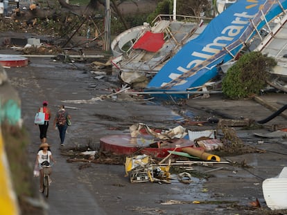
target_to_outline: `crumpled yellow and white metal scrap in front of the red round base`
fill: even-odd
[[[130,175],[131,183],[159,182],[170,183],[170,167],[159,167],[151,156],[145,154],[125,159],[125,176]]]

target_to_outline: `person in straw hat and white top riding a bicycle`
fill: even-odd
[[[50,147],[50,145],[48,143],[42,143],[40,145],[40,149],[37,153],[37,159],[36,159],[36,164],[39,167],[40,170],[40,192],[43,191],[43,177],[44,177],[44,173],[43,173],[43,165],[45,166],[49,166],[51,161],[53,161],[54,163],[56,162],[52,156],[51,150],[48,150]],[[51,172],[49,173],[49,175],[51,175]]]

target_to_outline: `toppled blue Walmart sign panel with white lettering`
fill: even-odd
[[[283,12],[286,4],[287,0],[237,1],[174,55],[150,81],[148,90],[186,91],[205,84],[217,75],[217,64],[234,59],[245,41]]]

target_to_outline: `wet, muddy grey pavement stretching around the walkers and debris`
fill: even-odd
[[[18,54],[19,50],[1,50],[1,53]],[[93,52],[89,50],[89,53]],[[6,68],[6,71],[19,91],[24,126],[31,134],[28,147],[31,165],[40,144],[33,116],[42,101],[49,101],[53,115],[60,104],[67,106],[73,123],[64,147],[60,147],[58,131],[49,127],[48,142],[58,162],[53,167],[49,198],[44,199],[49,206],[48,214],[287,214],[271,211],[262,191],[263,180],[277,176],[286,165],[286,140],[254,135],[284,128],[284,117],[251,128],[235,127],[236,135],[250,151],[233,154],[218,151],[221,160],[229,164],[193,165],[197,177],[189,184],[180,183],[176,174],[171,184],[130,183],[121,160],[119,165],[109,165],[71,162],[71,159],[78,158],[78,151],[98,150],[101,138],[127,134],[129,127],[139,122],[161,129],[181,124],[186,129],[202,131],[218,128],[216,123],[205,122],[209,118],[262,120],[272,111],[253,100],[230,101],[223,95],[198,97],[178,104],[172,100],[144,101],[121,96],[117,100],[97,100],[121,87],[116,74],[98,79],[98,75],[90,72],[91,62],[87,60],[69,63],[49,57],[28,59],[28,66]],[[281,106],[278,102],[286,102],[283,93],[261,98],[278,107]],[[196,120],[202,123],[194,124]],[[220,130],[218,136],[223,136]],[[114,158],[109,156],[106,158]],[[256,199],[261,207],[252,206]]]

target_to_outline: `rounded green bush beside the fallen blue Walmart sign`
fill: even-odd
[[[260,52],[243,55],[223,78],[223,93],[233,100],[259,94],[276,65],[275,59]]]

